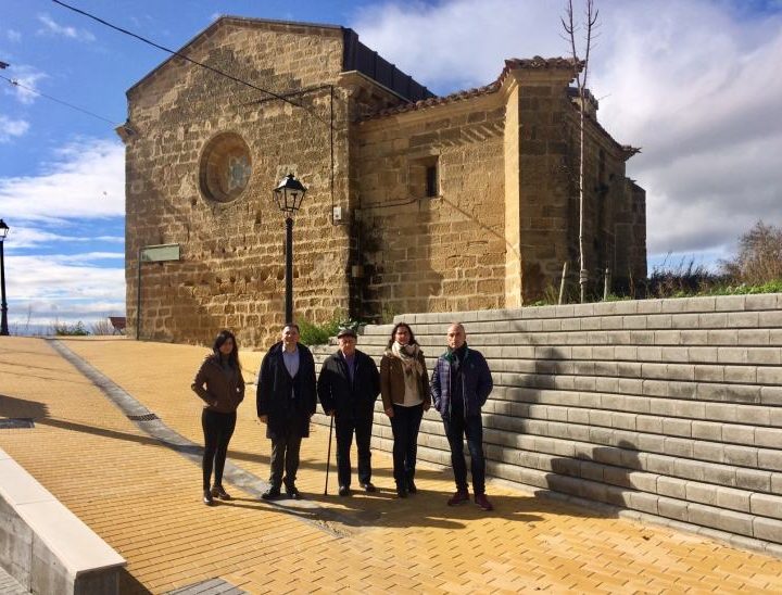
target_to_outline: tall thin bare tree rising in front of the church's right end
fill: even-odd
[[[590,50],[592,49],[592,37],[597,24],[597,14],[600,11],[595,9],[594,0],[585,0],[585,34],[584,34],[584,58],[581,63],[583,68],[579,69],[579,56],[576,42],[576,34],[584,25],[577,25],[573,18],[573,2],[568,0],[565,8],[565,17],[562,18],[563,27],[567,34],[567,39],[570,41],[570,52],[572,54],[573,64],[576,66],[576,84],[578,86],[579,96],[579,287],[581,294],[581,303],[584,302],[586,295],[586,283],[589,282],[589,271],[584,263],[584,119],[586,104],[586,77],[589,75],[589,59]]]

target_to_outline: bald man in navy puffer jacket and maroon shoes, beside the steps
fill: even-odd
[[[447,329],[447,351],[438,358],[431,378],[434,407],[443,418],[451,446],[456,493],[447,501],[456,506],[469,501],[464,436],[470,452],[475,502],[483,510],[493,506],[485,496],[485,459],[481,407],[485,405],[493,383],[483,355],[467,347],[467,333],[461,324]]]

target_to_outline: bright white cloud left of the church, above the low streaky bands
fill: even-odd
[[[38,176],[0,178],[0,204],[9,220],[123,216],[124,147],[109,140],[73,142]]]

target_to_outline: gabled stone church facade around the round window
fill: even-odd
[[[264,89],[301,90],[291,100],[304,109],[180,59],[130,89],[128,328],[139,246],[179,243],[181,262],[142,265],[141,337],[207,342],[229,327],[244,344],[267,343],[269,327],[282,322],[285,292],[285,225],[272,189],[289,172],[308,188],[294,226],[297,312],[317,320],[346,311],[349,233],[331,224],[332,203],[346,204],[346,97],[336,89],[332,197],[332,105],[323,88],[341,72],[341,29],[220,20],[187,54]],[[238,198],[222,202],[203,191],[202,155],[226,132],[247,143],[252,173]]]

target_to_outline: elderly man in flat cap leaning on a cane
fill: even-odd
[[[375,401],[380,393],[380,375],[371,357],[355,349],[355,331],[342,329],[337,339],[340,349],[323,363],[317,388],[324,412],[335,417],[337,426],[339,495],[350,496],[350,451],[354,431],[358,448],[358,483],[367,492],[376,491],[371,483],[369,441]]]

